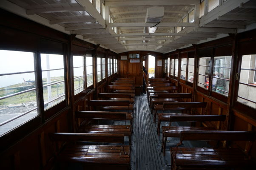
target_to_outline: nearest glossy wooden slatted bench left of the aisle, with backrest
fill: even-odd
[[[49,136],[53,141],[62,142],[122,143],[122,146],[66,144],[60,153],[56,153],[61,169],[76,163],[82,164],[83,169],[131,170],[130,147],[124,146],[123,134],[49,133]]]

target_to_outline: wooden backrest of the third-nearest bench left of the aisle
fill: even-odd
[[[116,101],[116,100],[90,100],[88,106],[129,106],[130,101]]]

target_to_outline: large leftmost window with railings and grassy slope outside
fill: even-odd
[[[34,56],[0,50],[0,136],[38,115]]]

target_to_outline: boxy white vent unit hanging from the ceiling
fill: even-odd
[[[152,7],[147,9],[147,23],[159,23],[164,17],[164,7]]]

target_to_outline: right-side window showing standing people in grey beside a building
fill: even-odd
[[[214,57],[212,90],[228,96],[231,56]]]

